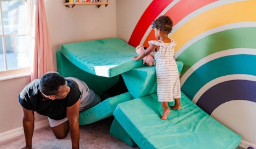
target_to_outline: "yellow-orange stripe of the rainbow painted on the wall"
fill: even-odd
[[[190,39],[218,26],[256,21],[256,1],[234,2],[203,12],[177,29],[170,38],[177,42],[175,52]],[[242,13],[241,13],[242,12]],[[239,36],[239,35],[237,35]]]

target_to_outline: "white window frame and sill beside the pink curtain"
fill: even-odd
[[[27,0],[27,19],[28,19],[28,36],[29,36],[29,43],[30,43],[30,59],[33,58],[33,52],[32,49],[34,49],[34,42],[35,42],[35,31],[32,30],[32,28],[34,28],[33,24],[35,19],[33,19],[33,14],[35,14],[35,10],[32,10],[33,7],[33,0]],[[1,0],[0,0],[0,6],[1,6]],[[2,13],[1,13],[1,19],[2,19]],[[4,36],[2,36],[4,37]],[[6,54],[6,52],[4,51],[4,54]],[[31,61],[32,62],[32,61]],[[14,70],[4,70],[4,71],[0,71],[0,81],[2,80],[6,80],[6,79],[14,79],[14,78],[20,78],[20,77],[24,77],[24,76],[30,76],[31,75],[31,65],[28,66],[27,68],[17,68]]]

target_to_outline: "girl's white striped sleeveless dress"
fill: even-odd
[[[173,102],[173,99],[181,98],[181,84],[179,71],[174,59],[174,46],[176,42],[148,41],[148,44],[160,46],[155,52],[157,95],[159,102]]]

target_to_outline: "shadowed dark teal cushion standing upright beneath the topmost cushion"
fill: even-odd
[[[56,52],[58,72],[62,76],[73,76],[84,81],[90,89],[96,94],[103,96],[103,94],[115,84],[119,82],[119,76],[112,78],[106,78],[103,76],[96,76],[86,71],[81,70],[73,63],[71,63],[64,55],[61,54],[60,50]]]

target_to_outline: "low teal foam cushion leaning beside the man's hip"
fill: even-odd
[[[79,113],[79,125],[91,124],[101,119],[113,116],[114,109],[119,103],[131,100],[129,92],[109,97],[88,110]]]

